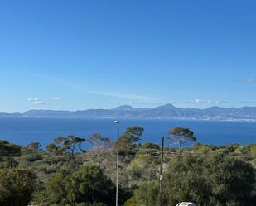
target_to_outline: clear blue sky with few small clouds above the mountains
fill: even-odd
[[[255,0],[2,0],[0,111],[256,106]]]

